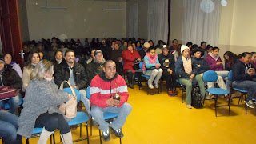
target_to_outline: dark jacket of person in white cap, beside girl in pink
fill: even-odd
[[[165,62],[166,60],[169,60],[169,65],[168,67],[165,66]],[[167,56],[165,56],[164,54],[158,54],[158,60],[159,60],[159,63],[161,64],[161,68],[163,71],[167,71],[167,69],[170,69],[172,71],[175,70],[175,60],[174,60],[174,55],[173,54],[168,54]]]

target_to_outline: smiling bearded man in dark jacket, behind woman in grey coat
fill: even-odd
[[[81,100],[86,106],[88,114],[90,114],[90,101],[86,98],[86,72],[84,67],[74,61],[74,50],[66,50],[65,61],[62,61],[54,71],[54,82],[57,86],[61,86],[63,81],[70,82],[71,86],[81,95]],[[68,87],[65,83],[64,86]]]

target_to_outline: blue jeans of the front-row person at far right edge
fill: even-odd
[[[233,87],[248,90],[248,97],[246,102],[252,99],[256,99],[256,81],[234,81],[232,82]]]

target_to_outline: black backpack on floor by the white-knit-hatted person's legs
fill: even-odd
[[[202,97],[200,94],[200,90],[198,87],[194,88],[194,90],[192,90],[192,94],[191,94],[191,106],[193,106],[196,109],[200,109],[202,108]]]

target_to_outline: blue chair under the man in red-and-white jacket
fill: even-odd
[[[90,86],[87,87],[86,97],[90,99]],[[118,117],[118,113],[110,113],[110,112],[103,113],[103,118],[106,122],[113,122],[114,118],[117,118],[117,117]],[[92,135],[92,120],[93,118],[90,117],[90,135]],[[100,139],[100,142],[102,143],[102,133],[100,129],[98,130],[99,130],[99,139]],[[122,143],[121,138],[119,139],[120,139],[120,143]]]

